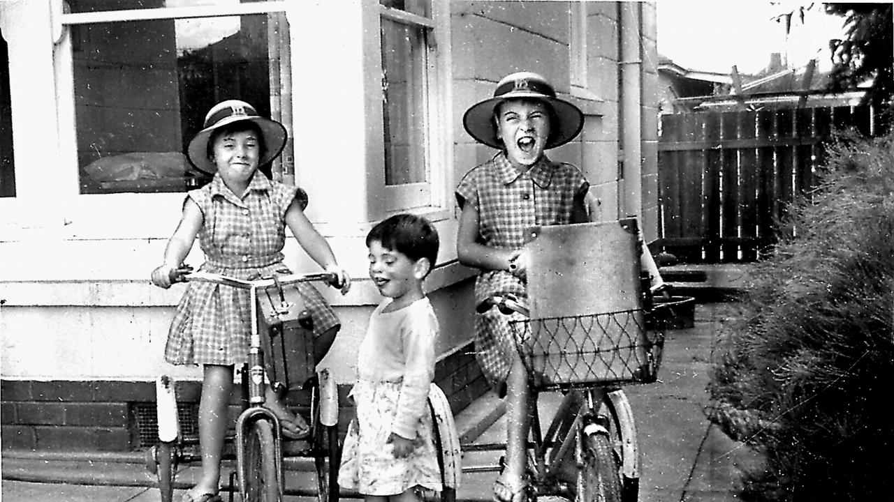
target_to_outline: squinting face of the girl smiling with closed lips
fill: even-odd
[[[261,157],[261,141],[253,130],[225,131],[214,138],[211,160],[221,173],[223,182],[241,196],[257,171]]]

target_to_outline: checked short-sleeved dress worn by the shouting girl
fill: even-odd
[[[574,198],[587,188],[584,174],[569,163],[553,163],[544,155],[528,172],[520,173],[500,153],[466,173],[456,197],[460,208],[467,204],[477,208],[479,243],[514,250],[524,246],[531,227],[569,223]],[[525,283],[510,272],[478,275],[476,305],[486,297],[508,293],[527,300]],[[517,319],[522,319],[520,314],[500,314],[496,309],[476,316],[478,364],[500,395],[516,350],[509,322]]]

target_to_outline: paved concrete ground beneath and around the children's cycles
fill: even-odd
[[[709,404],[705,385],[718,333],[723,320],[736,314],[735,304],[696,305],[695,328],[667,333],[660,381],[626,389],[643,452],[640,502],[738,500],[741,470],[759,464],[754,452],[726,437],[704,413]],[[492,395],[482,397],[457,417],[460,432],[481,434],[479,441],[502,442],[501,409]],[[474,463],[481,464],[482,458],[478,455]],[[157,489],[149,488],[151,480],[142,464],[134,463],[132,456],[131,462],[126,460],[120,456],[22,458],[7,453],[0,497],[6,502],[159,500]],[[491,461],[495,462],[495,456]],[[187,467],[178,481],[189,483],[194,473],[194,467]],[[494,473],[465,474],[458,498],[489,500],[494,477]],[[286,481],[291,489],[315,486],[308,472],[290,471]],[[300,499],[307,498],[290,496],[286,501]]]

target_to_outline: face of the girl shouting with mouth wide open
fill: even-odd
[[[510,99],[497,107],[497,138],[515,167],[530,167],[540,160],[550,137],[550,110],[542,101]]]

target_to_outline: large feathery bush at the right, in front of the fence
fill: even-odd
[[[839,137],[819,174],[723,333],[712,418],[765,453],[746,498],[890,499],[894,135]]]

